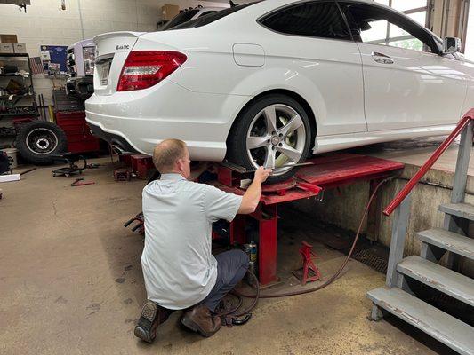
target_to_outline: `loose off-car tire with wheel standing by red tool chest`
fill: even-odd
[[[51,164],[53,154],[61,154],[68,149],[68,138],[57,124],[33,121],[20,127],[15,146],[28,162]]]

